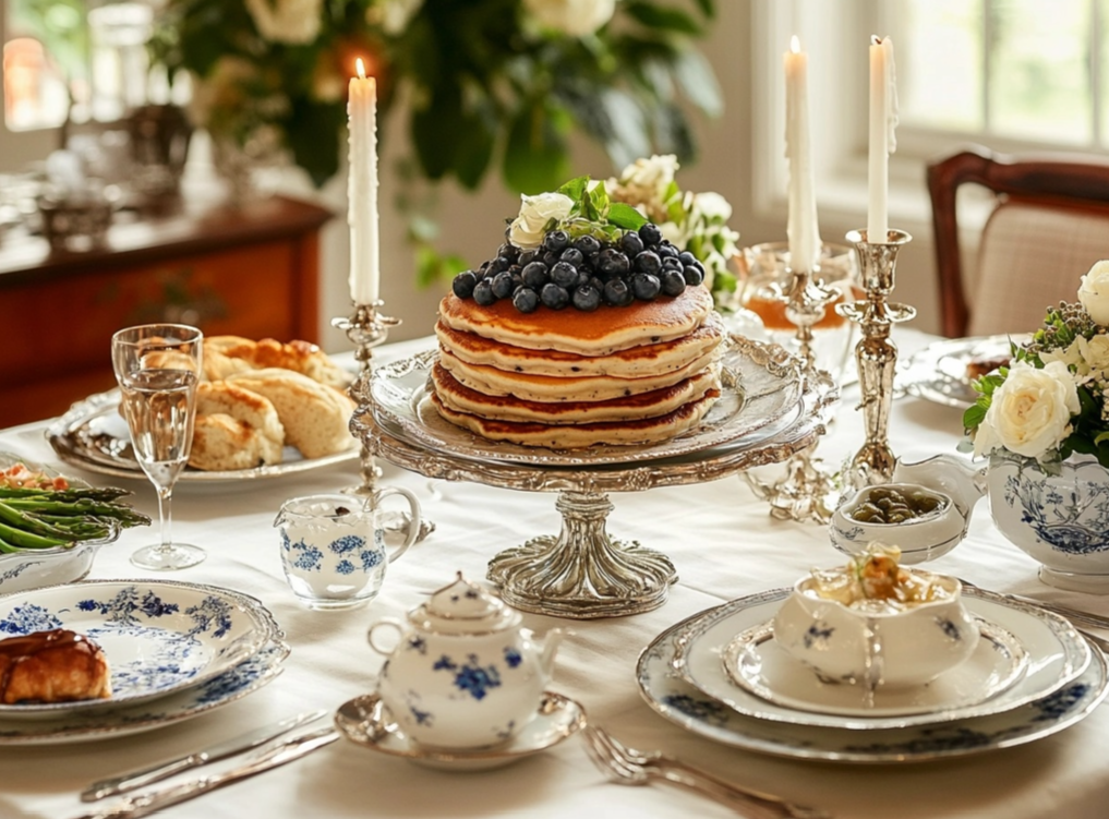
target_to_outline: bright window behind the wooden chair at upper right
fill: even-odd
[[[1109,149],[1109,0],[886,0],[910,131]]]

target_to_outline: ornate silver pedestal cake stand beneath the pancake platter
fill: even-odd
[[[754,366],[795,361],[776,345],[743,343]],[[398,424],[376,419],[368,405],[355,412],[350,429],[373,455],[427,477],[560,493],[554,504],[562,516],[560,534],[500,553],[489,563],[489,578],[507,603],[528,611],[582,619],[632,615],[665,603],[676,573],[665,555],[609,536],[606,519],[613,507],[607,493],[715,481],[812,446],[824,434],[838,387],[822,371],[792,372],[800,401],[777,421],[728,444],[622,464],[597,463],[589,449],[570,463],[548,466],[470,457],[429,446]]]

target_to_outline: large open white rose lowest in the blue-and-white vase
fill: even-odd
[[[975,434],[975,454],[1005,447],[1026,457],[1041,457],[1070,434],[1070,418],[1078,411],[1078,387],[1066,364],[1054,361],[1037,370],[1018,363],[994,392]]]

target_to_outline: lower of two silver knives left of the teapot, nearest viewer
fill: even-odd
[[[237,782],[240,779],[246,779],[256,774],[262,774],[272,768],[292,762],[317,748],[330,745],[338,738],[339,732],[334,728],[322,728],[311,734],[301,734],[263,748],[252,755],[246,764],[237,768],[232,768],[224,774],[202,777],[201,779],[194,779],[181,785],[171,785],[161,790],[149,790],[123,797],[112,805],[104,806],[99,811],[83,813],[78,819],[136,819],[155,810],[161,810],[171,805],[184,802],[202,793],[207,793],[216,788],[222,788],[225,785]]]

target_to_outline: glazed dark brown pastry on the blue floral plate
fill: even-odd
[[[100,646],[57,628],[0,640],[0,702],[108,699],[112,677]]]

